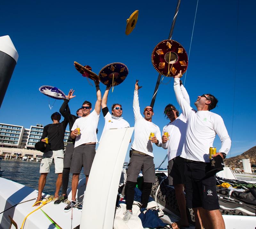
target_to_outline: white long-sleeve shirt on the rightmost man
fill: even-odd
[[[180,79],[174,78],[174,92],[182,113],[187,119],[187,131],[181,157],[202,162],[210,162],[209,148],[218,134],[221,148],[217,152],[228,154],[231,140],[223,119],[211,111],[196,111],[185,101],[181,89]]]

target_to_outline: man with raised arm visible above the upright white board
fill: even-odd
[[[103,128],[103,132],[101,136],[103,136],[104,132],[108,129],[130,127],[129,123],[126,120],[124,120],[124,118],[122,117],[123,108],[121,104],[114,103],[111,107],[112,114],[109,113],[108,107],[107,107],[107,101],[108,101],[108,92],[110,88],[111,86],[107,86],[101,102],[102,113],[105,119],[105,126]]]

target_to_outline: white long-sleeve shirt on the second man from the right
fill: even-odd
[[[187,90],[183,87],[183,85],[180,86],[180,89],[185,101],[190,104]],[[174,121],[169,122],[166,126],[164,126],[162,135],[164,135],[164,132],[168,132],[170,135],[169,140],[166,143],[162,143],[162,147],[167,149],[168,161],[172,160],[176,156],[181,155],[185,141],[186,130],[187,119],[183,113],[181,113],[180,116]]]

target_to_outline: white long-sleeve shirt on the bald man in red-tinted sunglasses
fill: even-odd
[[[159,141],[157,146],[161,146],[162,138],[158,126],[153,122],[147,121],[140,114],[138,90],[134,90],[133,96],[133,112],[134,112],[134,141],[132,142],[132,149],[145,153],[149,156],[153,155],[153,143],[149,140],[150,133],[154,133],[156,139]]]

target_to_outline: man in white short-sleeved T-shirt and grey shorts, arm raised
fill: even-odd
[[[70,172],[72,177],[72,201],[65,207],[64,211],[71,210],[76,204],[76,189],[78,186],[79,174],[84,167],[86,184],[88,182],[92,162],[95,156],[95,145],[98,142],[96,129],[100,118],[101,93],[100,82],[94,81],[96,86],[97,101],[94,110],[92,103],[84,101],[82,106],[83,117],[76,119],[71,129],[71,138],[76,139],[74,152],[71,161]]]

